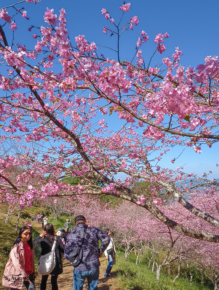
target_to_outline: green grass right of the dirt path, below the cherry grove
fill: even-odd
[[[142,263],[140,266],[135,264],[134,255],[130,255],[128,261],[124,260],[124,253],[117,251],[116,269],[117,282],[123,289],[135,290],[209,290],[197,282],[190,285],[190,281],[185,278],[178,278],[172,285],[174,277],[168,278],[161,274],[160,281],[156,281],[156,273],[148,269],[148,265]],[[155,271],[156,272],[156,271]]]

